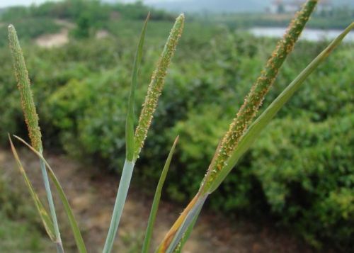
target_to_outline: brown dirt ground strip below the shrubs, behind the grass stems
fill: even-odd
[[[38,159],[27,150],[20,150],[19,153],[23,160],[23,166],[30,179],[33,180],[35,188],[41,189],[40,191],[43,193]],[[74,214],[79,220],[79,227],[83,232],[88,252],[100,252],[108,231],[119,177],[115,174],[108,174],[104,168],[85,167],[64,155],[47,154],[46,157],[52,168],[55,169]],[[0,150],[0,173],[4,173],[1,172],[2,170],[15,173],[21,180],[15,160],[8,150]],[[55,190],[53,189],[53,191]],[[24,192],[23,194],[28,193]],[[42,199],[45,200],[45,196]],[[69,225],[62,206],[57,198],[55,200],[59,210],[59,224],[64,247],[67,248],[66,252],[76,252],[72,235],[67,232]],[[140,252],[151,204],[151,196],[139,191],[137,186],[131,189],[118,230],[118,239],[115,240],[114,252]],[[152,249],[164,237],[173,221],[181,213],[182,208],[175,203],[161,201],[154,228]],[[55,252],[54,248],[53,252]],[[246,220],[231,222],[222,218],[221,215],[204,210],[190,240],[185,244],[183,252],[305,253],[312,252],[312,250],[303,242],[290,236],[289,233],[279,231],[271,225],[261,227]]]

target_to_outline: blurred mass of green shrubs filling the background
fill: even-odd
[[[120,172],[125,157],[125,113],[142,4],[113,7],[64,1],[9,9],[1,22],[15,23],[33,83],[46,148]],[[67,45],[40,48],[31,39],[60,29],[53,18],[76,23]],[[137,105],[171,28],[173,16],[153,12],[147,31]],[[98,29],[108,38],[96,39]],[[0,28],[0,115],[6,133],[25,137],[19,94]],[[198,33],[196,33],[198,31]],[[168,198],[187,201],[198,190],[217,141],[275,46],[225,26],[188,20],[166,79],[137,181],[151,188],[176,135],[180,142],[166,184]],[[300,42],[282,67],[265,106],[325,47]],[[242,162],[210,198],[209,208],[271,218],[315,247],[354,250],[353,75],[354,45],[343,44],[280,111]],[[137,106],[139,111],[139,106]],[[149,182],[149,183],[147,183]]]

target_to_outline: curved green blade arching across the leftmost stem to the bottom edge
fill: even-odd
[[[59,193],[59,198],[62,201],[65,213],[67,214],[67,218],[69,220],[69,224],[72,227],[72,232],[74,234],[76,247],[77,247],[77,249],[79,249],[80,253],[86,253],[87,251],[86,251],[85,243],[84,243],[84,240],[82,239],[82,235],[79,230],[79,226],[76,223],[76,219],[74,218],[74,213],[72,212],[72,208],[70,207],[69,201],[67,200],[67,196],[65,195],[64,190],[62,189],[62,186],[60,185],[60,183],[57,179],[57,176],[55,176],[55,174],[52,170],[52,167],[50,167],[50,164],[48,164],[48,162],[45,160],[45,158],[42,156],[42,154],[40,152],[38,152],[37,150],[35,150],[34,147],[29,145],[27,142],[25,142],[25,140],[21,139],[21,137],[18,137],[16,135],[13,135],[13,136],[16,137],[16,139],[23,142],[23,144],[25,144],[28,148],[30,148],[30,150],[32,150],[35,154],[37,154],[38,157],[45,163],[47,172],[50,176],[50,179],[52,179],[52,181],[55,185],[55,188],[57,189],[57,191]]]

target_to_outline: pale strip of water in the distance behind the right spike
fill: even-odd
[[[273,37],[280,38],[284,35],[286,28],[277,27],[255,27],[249,29],[249,32],[257,37]],[[336,38],[343,30],[321,30],[321,29],[304,29],[300,39],[309,41],[332,40]],[[354,42],[354,31],[352,30],[343,41]]]

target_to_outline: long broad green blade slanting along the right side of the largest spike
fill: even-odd
[[[295,94],[295,91],[297,91],[297,89],[299,89],[304,80],[309,77],[309,74],[314,72],[316,67],[318,67],[319,64],[321,64],[321,62],[326,59],[326,57],[329,57],[332,50],[341,43],[343,38],[346,37],[346,35],[353,28],[354,22],[351,23],[350,26],[348,26],[346,30],[341,33],[341,35],[338,35],[338,37],[334,39],[324,51],[322,51],[314,60],[312,60],[312,62],[307,65],[307,67],[294,79],[294,81],[292,81],[287,86],[287,88],[282,91],[282,93],[273,101],[273,103],[271,103],[270,106],[265,109],[261,116],[259,116],[253,122],[253,124],[249,127],[244,136],[241,138],[236,150],[234,150],[232,156],[227,161],[227,165],[215,178],[215,181],[212,182],[210,188],[208,189],[210,193],[212,191],[215,191],[217,187],[222,183],[222,181],[224,181],[227,174],[231,172],[232,168],[236,165],[242,155],[244,155],[247,150],[249,150],[249,147],[252,145],[254,140],[256,140],[256,138],[260,135],[261,130],[263,130],[268,125],[270,120],[272,120],[275,114],[278,113],[280,108],[284,106],[284,104],[292,97],[293,94]]]

